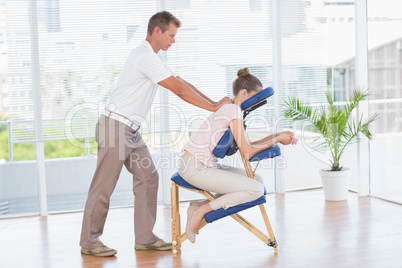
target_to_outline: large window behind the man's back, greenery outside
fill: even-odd
[[[39,191],[47,193],[49,211],[83,209],[96,167],[99,111],[130,49],[145,38],[157,4],[0,2],[1,32],[7,37],[2,88],[9,102],[8,111],[4,109],[9,120],[1,125],[9,146],[2,154],[0,202],[9,204],[9,214],[37,213]],[[35,148],[40,142],[46,181],[38,186]],[[123,171],[112,206],[133,203],[131,181]]]

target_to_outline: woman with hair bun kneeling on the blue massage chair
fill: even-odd
[[[191,202],[187,209],[186,232],[188,239],[194,243],[204,215],[212,210],[254,201],[264,195],[264,186],[249,178],[242,169],[218,164],[212,151],[224,132],[230,127],[239,147],[240,154],[246,159],[268,149],[276,143],[296,144],[293,132],[284,131],[269,135],[261,140],[250,142],[243,125],[240,105],[263,89],[261,81],[250,74],[249,68],[240,69],[233,81],[233,104],[225,104],[211,114],[193,133],[184,146],[184,154],[179,166],[179,175],[193,186],[217,193],[213,201]]]

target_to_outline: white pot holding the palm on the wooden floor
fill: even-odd
[[[342,201],[348,198],[350,174],[350,168],[343,168],[341,171],[320,169],[325,200]]]

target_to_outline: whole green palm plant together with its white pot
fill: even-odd
[[[353,110],[359,102],[368,96],[367,91],[354,90],[352,97],[344,104],[334,102],[330,91],[326,92],[327,103],[313,108],[309,102],[298,98],[289,98],[284,102],[285,117],[291,121],[310,123],[318,132],[314,140],[313,150],[329,150],[330,168],[320,170],[324,196],[329,201],[347,199],[348,177],[350,168],[342,167],[341,157],[345,149],[356,142],[360,142],[359,134],[372,139],[369,125],[376,119],[377,114],[363,120],[363,117],[352,116]]]

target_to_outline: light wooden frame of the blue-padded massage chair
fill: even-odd
[[[246,169],[247,176],[251,179],[255,179],[255,170],[254,172],[251,169],[250,162],[245,159],[242,156],[243,164]],[[258,161],[259,163],[259,161]],[[256,169],[258,167],[258,163],[256,166]],[[193,192],[197,192],[199,194],[202,194],[205,198],[208,200],[214,200],[216,197],[208,191],[203,191],[203,190],[196,190],[196,189],[190,189],[187,187],[183,187],[181,185],[178,185],[177,183],[172,181],[172,187],[171,187],[171,202],[172,202],[172,254],[177,255],[178,251],[181,248],[181,244],[186,241],[187,239],[187,233],[181,232],[181,226],[180,226],[180,211],[179,211],[179,187],[182,187],[186,190],[190,190]],[[253,233],[257,238],[259,238],[263,243],[267,244],[270,247],[273,247],[275,252],[278,251],[278,244],[276,242],[274,233],[272,231],[271,224],[268,219],[267,212],[265,211],[265,206],[264,204],[258,205],[260,207],[261,215],[265,223],[265,227],[267,229],[268,235],[260,231],[257,227],[252,225],[249,221],[247,221],[245,218],[240,216],[238,213],[233,213],[230,216],[240,223],[244,228],[249,230],[251,233]],[[205,219],[202,220],[200,229],[203,228],[205,225],[208,223],[205,221]]]

